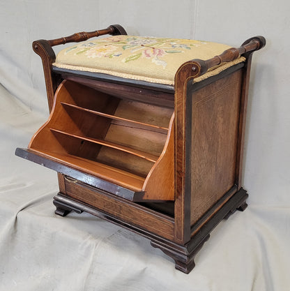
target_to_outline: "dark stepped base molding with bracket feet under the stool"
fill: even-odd
[[[160,248],[163,253],[172,258],[175,261],[176,269],[183,271],[185,274],[189,274],[195,266],[195,255],[204,243],[208,241],[213,228],[223,218],[229,218],[229,216],[234,214],[236,210],[244,211],[247,207],[247,197],[248,195],[246,191],[241,188],[240,191],[234,194],[222,208],[220,208],[210,219],[208,219],[208,221],[206,221],[206,224],[204,224],[204,226],[199,229],[199,232],[194,234],[190,241],[185,245],[174,244],[172,241],[158,237],[154,234],[150,234],[145,230],[141,230],[139,227],[134,227],[124,221],[121,221],[117,216],[109,216],[95,207],[91,207],[76,200],[68,199],[63,196],[62,193],[59,193],[54,197],[54,205],[56,206],[55,214],[59,216],[66,216],[70,213],[70,211],[75,211],[77,214],[87,212],[107,221],[111,221],[116,225],[121,225],[122,227],[125,227],[137,234],[141,234],[151,240],[151,246],[154,248]]]

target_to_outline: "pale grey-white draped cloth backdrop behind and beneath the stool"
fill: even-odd
[[[290,290],[289,1],[0,1],[0,291]],[[56,174],[14,156],[47,119],[33,40],[123,24],[130,34],[240,45],[254,54],[243,184],[185,275],[149,241],[89,214],[54,214]]]

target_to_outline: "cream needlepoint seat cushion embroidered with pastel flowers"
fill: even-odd
[[[227,48],[227,45],[200,40],[109,36],[65,48],[56,57],[56,66],[174,84],[181,64],[191,59],[210,59]]]

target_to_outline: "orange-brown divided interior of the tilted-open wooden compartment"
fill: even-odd
[[[143,191],[146,177],[168,144],[173,114],[173,108],[118,98],[66,80],[29,149]]]

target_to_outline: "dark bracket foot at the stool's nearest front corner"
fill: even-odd
[[[165,255],[168,255],[170,258],[174,259],[175,269],[183,271],[185,274],[189,274],[195,266],[195,255],[209,239],[209,237],[210,235],[208,234],[201,242],[199,242],[199,244],[194,244],[194,241],[193,243],[190,241],[185,246],[180,246],[177,244],[165,244],[160,243],[159,241],[151,241],[151,246],[154,248],[160,248]]]

